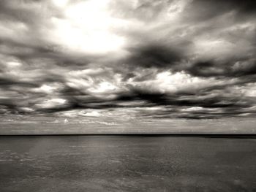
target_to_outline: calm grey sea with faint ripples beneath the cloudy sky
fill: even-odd
[[[0,137],[0,191],[256,191],[256,139]]]

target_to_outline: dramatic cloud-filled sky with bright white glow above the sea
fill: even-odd
[[[66,118],[255,133],[253,0],[1,0],[0,31],[0,134]]]

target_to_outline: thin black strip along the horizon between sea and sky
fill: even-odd
[[[256,139],[256,134],[1,134],[0,137],[86,137],[86,136],[123,136],[123,137],[206,137]]]

